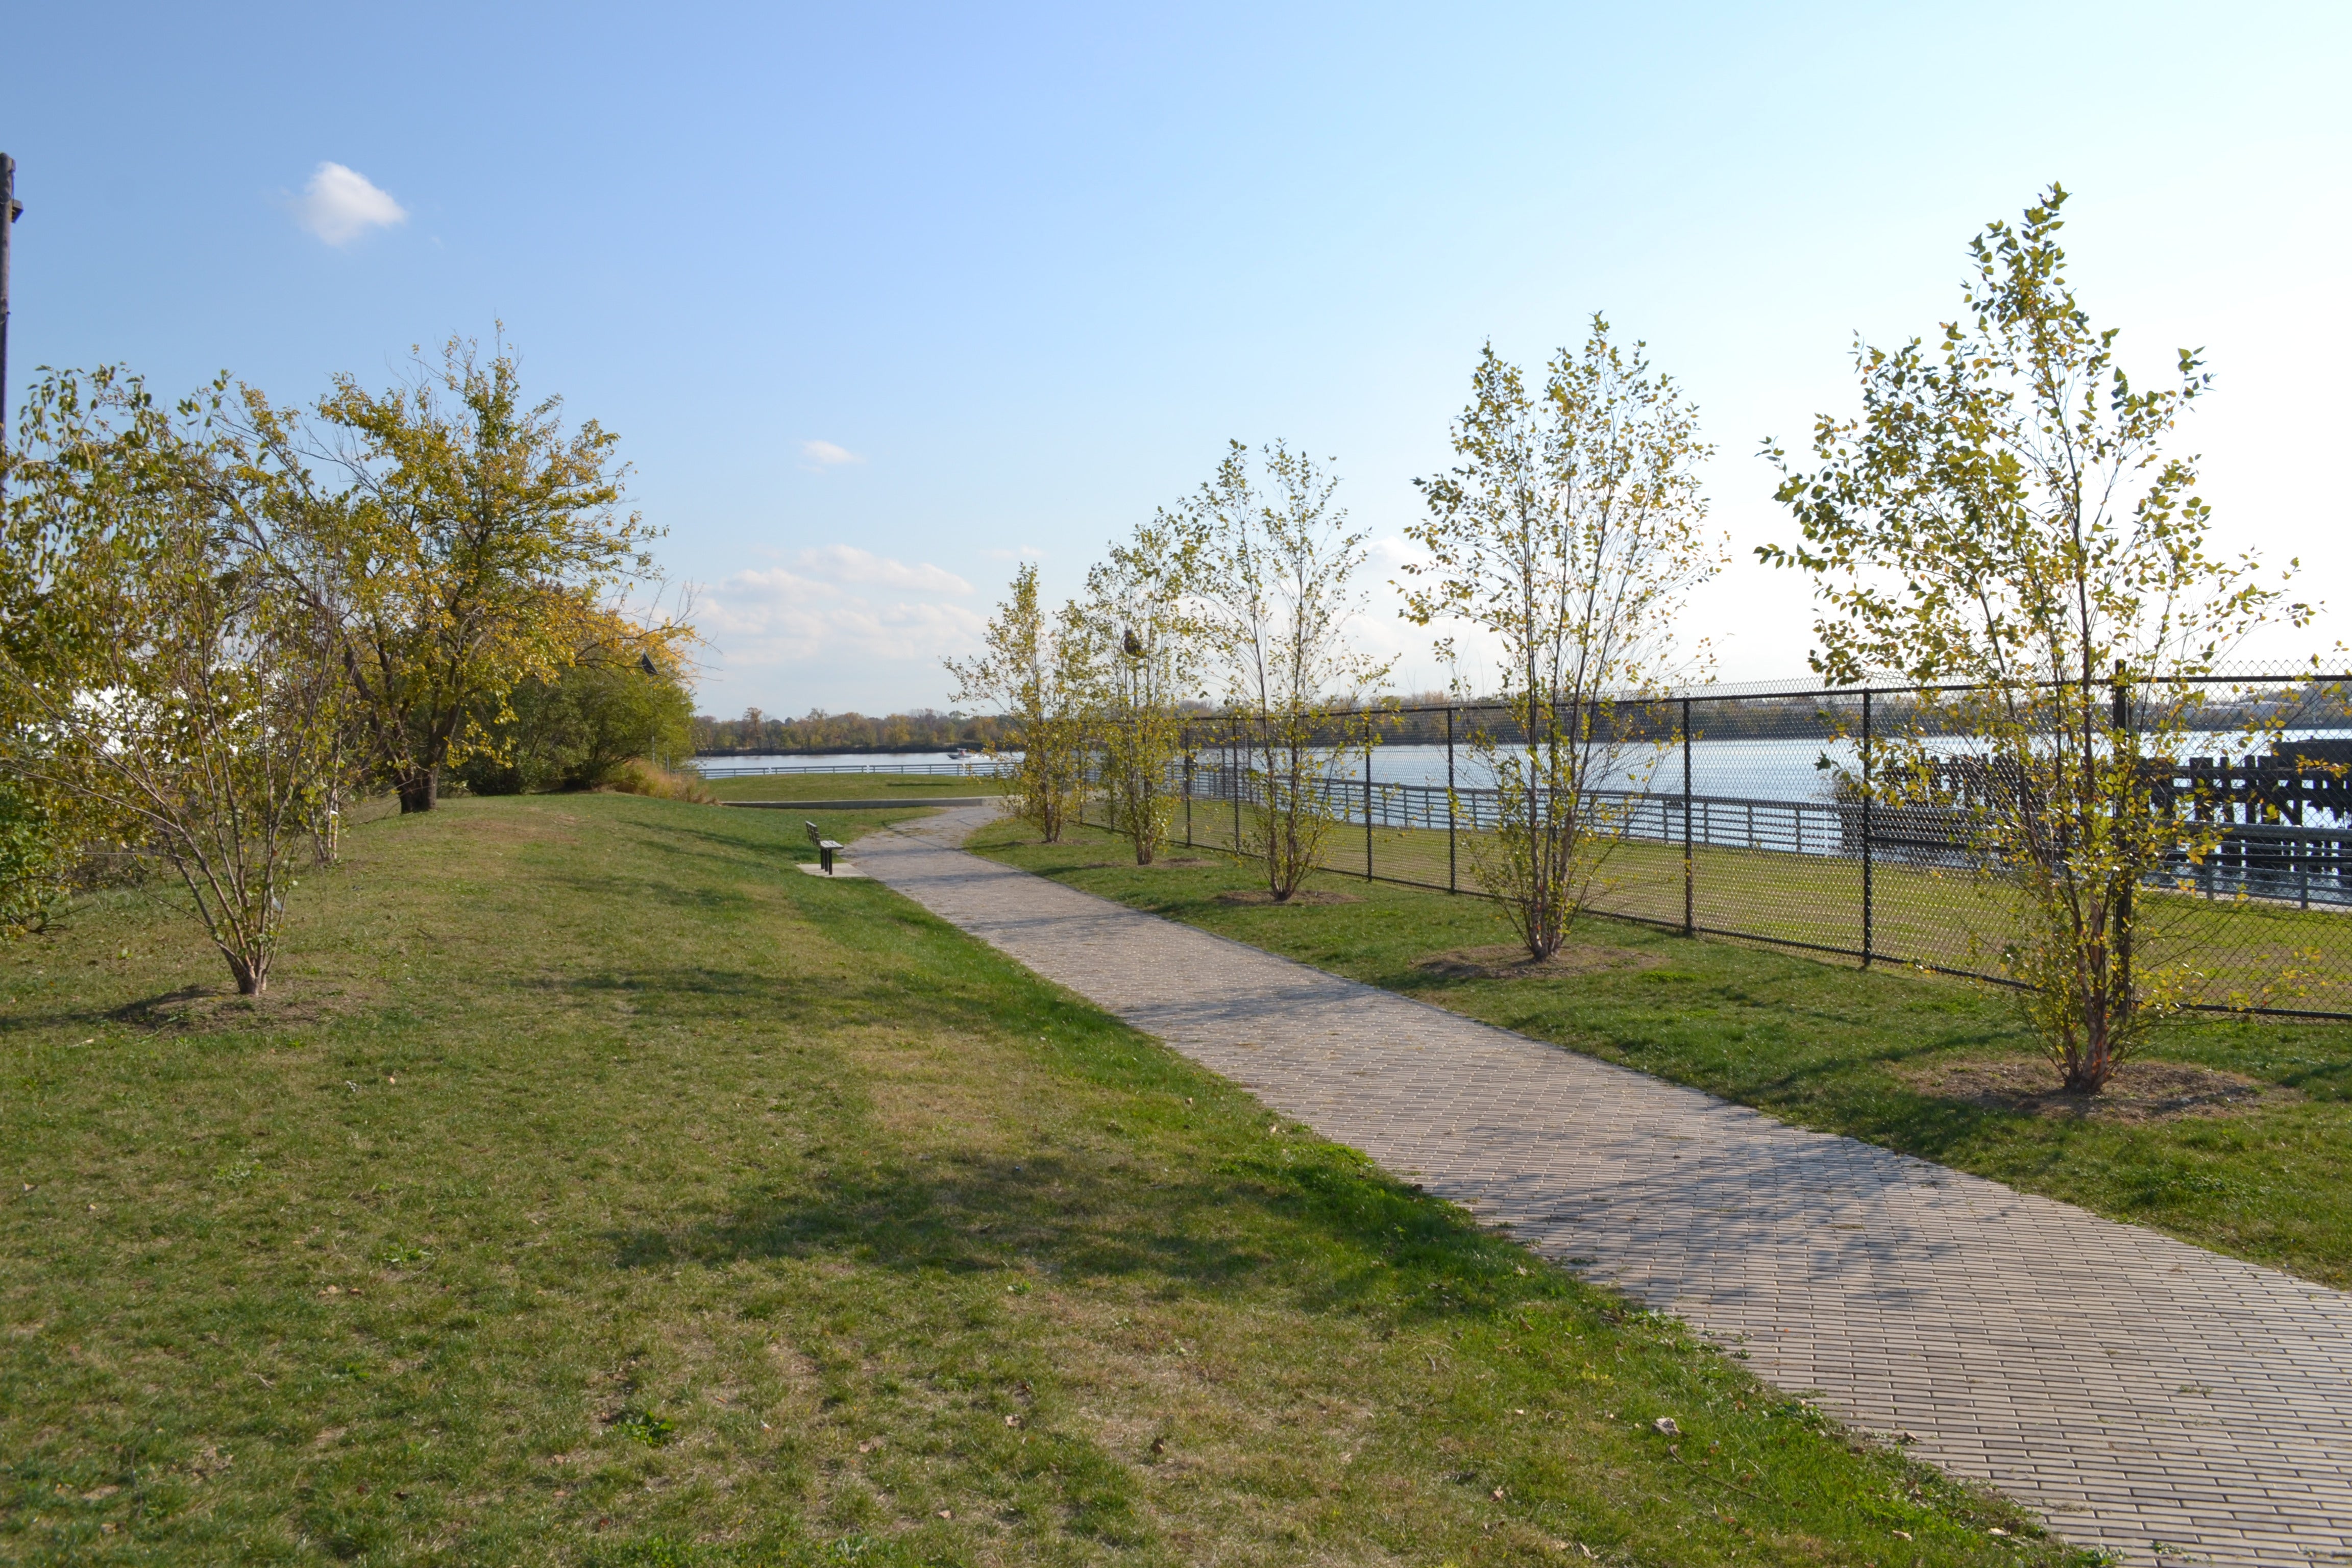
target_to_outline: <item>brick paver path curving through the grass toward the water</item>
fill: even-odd
[[[953,849],[868,875],[1783,1389],[2129,1561],[2352,1563],[2352,1298]]]

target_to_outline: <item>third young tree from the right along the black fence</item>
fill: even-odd
[[[1338,480],[1282,442],[1263,463],[1268,494],[1232,442],[1190,517],[1204,538],[1202,632],[1223,665],[1256,797],[1240,849],[1263,860],[1268,891],[1287,903],[1322,860],[1334,769],[1374,743],[1364,698],[1390,665],[1348,642],[1367,534],[1348,531],[1348,512],[1331,505]]]

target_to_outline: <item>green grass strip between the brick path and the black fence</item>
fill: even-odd
[[[2053,1119],[1915,1084],[1938,1063],[2034,1058],[2011,1001],[1992,987],[1912,971],[1865,973],[1613,919],[1585,922],[1576,940],[1625,947],[1658,966],[1458,980],[1414,961],[1510,943],[1501,907],[1484,898],[1324,875],[1312,886],[1355,893],[1359,903],[1235,907],[1216,893],[1256,882],[1225,858],[1138,870],[1124,844],[1094,830],[1042,846],[1016,823],[997,823],[974,844],[1105,898],[1693,1084],[1799,1126],[1849,1133],[2352,1286],[2352,1025],[2183,1020],[2157,1037],[2152,1058],[2293,1093],[2232,1117]]]

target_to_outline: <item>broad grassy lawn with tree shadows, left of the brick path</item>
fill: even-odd
[[[0,1561],[2063,1561],[779,816],[367,823],[259,1009],[7,950]]]

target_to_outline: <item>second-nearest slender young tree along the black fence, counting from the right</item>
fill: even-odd
[[[1501,823],[1472,856],[1526,952],[1548,959],[1621,839],[1606,792],[1642,788],[1656,764],[1656,741],[1623,715],[1691,668],[1675,621],[1724,559],[1696,475],[1710,447],[1675,383],[1651,376],[1639,343],[1611,343],[1599,315],[1583,355],[1552,360],[1541,397],[1494,346],[1470,388],[1456,468],[1418,482],[1430,515],[1406,536],[1428,559],[1406,564],[1421,585],[1404,614],[1465,623],[1496,649],[1477,693],[1501,698],[1508,733],[1477,729],[1470,748]],[[1472,693],[1454,637],[1439,656]]]

